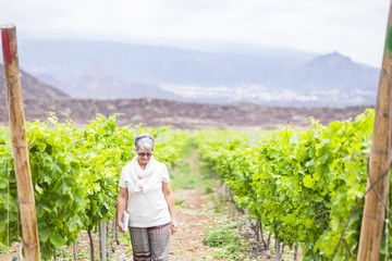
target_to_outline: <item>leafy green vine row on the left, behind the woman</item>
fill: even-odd
[[[133,137],[140,126],[117,127],[115,115],[98,115],[85,128],[46,123],[27,124],[29,162],[42,257],[71,246],[82,229],[97,229],[115,216],[119,175],[132,160]],[[155,157],[168,165],[179,161],[187,132],[143,128],[158,137]],[[160,141],[160,137],[164,139]],[[0,135],[0,238],[17,239],[16,179],[8,129]]]

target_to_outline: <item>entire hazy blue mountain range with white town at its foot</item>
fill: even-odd
[[[378,69],[338,52],[226,53],[82,40],[22,41],[19,50],[24,70],[74,98],[360,105],[376,103],[379,77]]]

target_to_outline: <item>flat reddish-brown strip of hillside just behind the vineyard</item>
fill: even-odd
[[[309,126],[309,116],[328,124],[336,120],[355,117],[365,107],[351,108],[279,108],[255,104],[222,105],[209,103],[180,102],[158,99],[119,100],[25,100],[27,121],[47,119],[48,112],[56,112],[59,121],[72,120],[83,126],[97,113],[112,115],[120,113],[120,125],[144,123],[148,126],[172,125],[181,128],[209,127],[269,127],[294,124]],[[8,124],[5,105],[0,104],[0,124]]]

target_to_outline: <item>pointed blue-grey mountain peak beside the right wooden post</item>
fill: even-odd
[[[317,97],[323,104],[375,104],[379,74],[379,69],[333,52],[315,58],[271,86]]]

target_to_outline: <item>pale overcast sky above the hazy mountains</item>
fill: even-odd
[[[381,66],[388,0],[0,0],[17,39],[338,51]],[[235,45],[234,45],[235,44]]]

